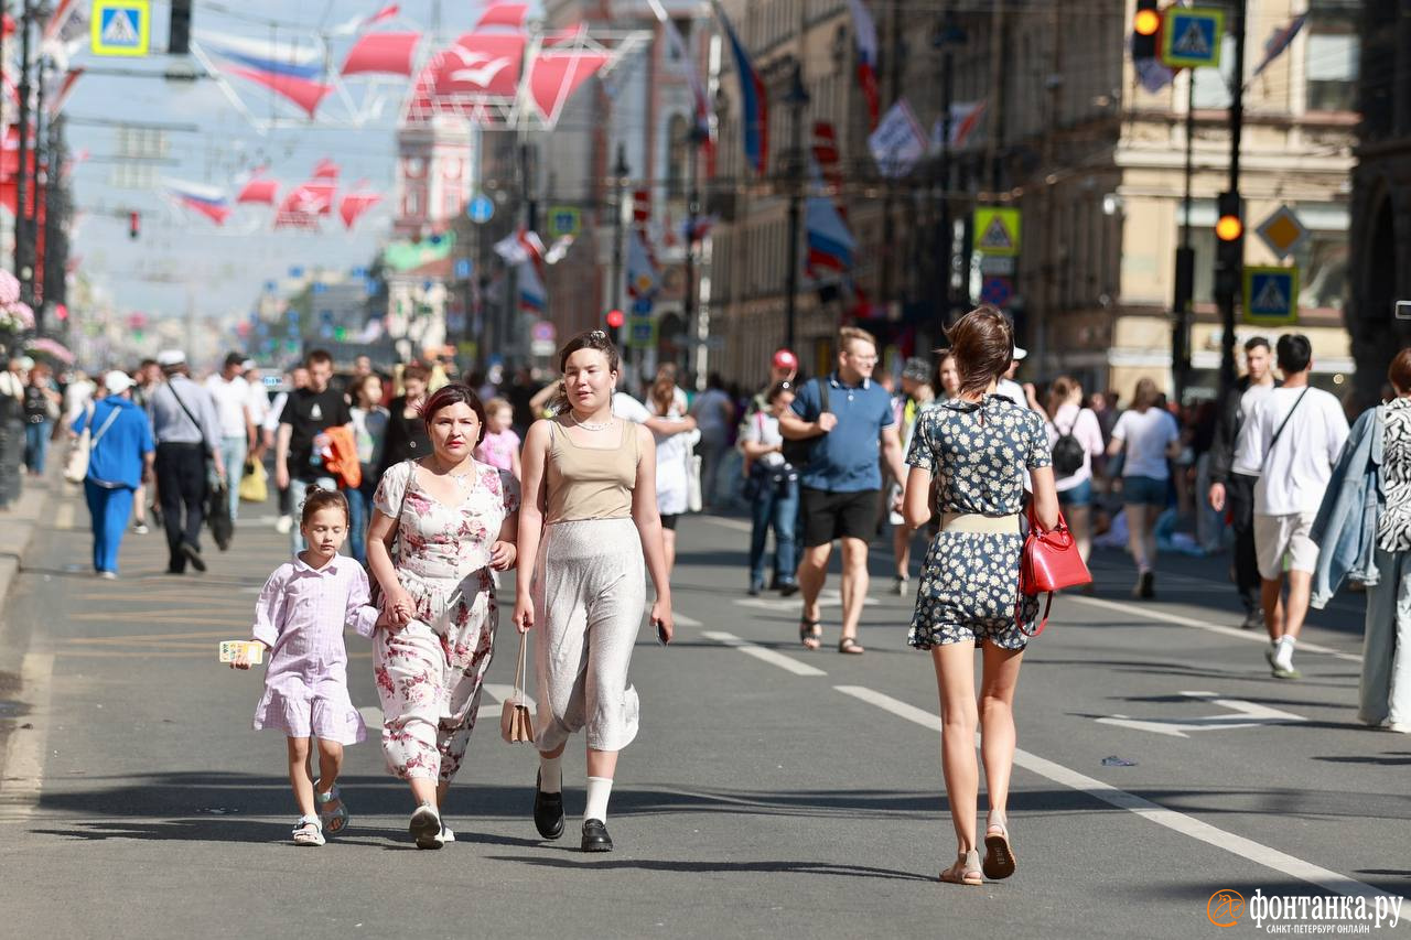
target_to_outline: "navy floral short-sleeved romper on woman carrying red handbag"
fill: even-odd
[[[940,512],[1012,515],[1023,511],[1024,467],[1047,467],[1053,457],[1038,412],[986,395],[923,411],[906,462],[931,471]],[[1029,637],[1015,622],[1023,546],[1017,526],[1012,535],[938,534],[926,552],[907,642],[930,649],[988,639],[1023,649]],[[1031,622],[1038,598],[1027,598],[1023,613]]]

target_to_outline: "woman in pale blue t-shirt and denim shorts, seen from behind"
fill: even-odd
[[[1132,408],[1112,426],[1108,456],[1122,454],[1122,505],[1127,546],[1137,566],[1132,596],[1156,597],[1156,521],[1170,502],[1171,464],[1181,454],[1181,428],[1160,399],[1156,382],[1137,380]]]

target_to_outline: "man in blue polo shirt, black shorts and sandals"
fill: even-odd
[[[902,442],[892,397],[872,381],[878,346],[871,333],[838,332],[838,370],[799,388],[792,411],[779,419],[789,440],[817,439],[800,467],[803,495],[803,559],[799,587],[803,615],[799,639],[809,649],[823,644],[818,593],[828,573],[832,541],[842,543],[842,639],[838,652],[861,653],[858,621],[868,594],[868,541],[876,534],[882,469],[904,480]]]

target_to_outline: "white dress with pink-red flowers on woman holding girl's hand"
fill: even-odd
[[[418,473],[412,460],[389,467],[373,500],[396,519],[392,560],[415,607],[406,627],[377,631],[374,679],[388,769],[404,779],[450,781],[494,652],[499,608],[490,555],[501,524],[519,510],[519,484],[476,464],[460,505],[447,505],[422,488]]]

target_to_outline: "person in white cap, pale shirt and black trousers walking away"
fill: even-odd
[[[200,525],[205,521],[206,462],[217,480],[226,478],[220,456],[220,418],[216,402],[190,380],[186,354],[169,349],[158,353],[166,381],[152,392],[148,411],[157,439],[157,493],[166,529],[166,573],[183,574],[188,562],[206,570],[200,555]]]

